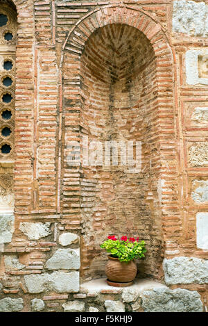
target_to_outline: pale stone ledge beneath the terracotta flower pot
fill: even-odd
[[[80,285],[80,291],[86,293],[122,293],[125,288],[135,290],[138,293],[153,290],[153,288],[168,288],[165,284],[155,282],[153,279],[135,279],[135,284],[128,287],[110,286],[106,283],[106,279],[93,279]]]

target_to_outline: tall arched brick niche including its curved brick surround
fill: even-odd
[[[161,78],[164,71],[169,76],[166,84]],[[141,172],[137,174],[128,173],[123,166],[80,167],[77,213],[83,230],[83,278],[103,275],[106,256],[99,245],[109,234],[144,239],[148,253],[144,261],[138,262],[139,276],[162,277],[160,184],[168,160],[160,146],[164,135],[159,111],[162,108],[173,113],[173,72],[173,54],[166,35],[142,10],[116,6],[95,10],[78,22],[64,42],[65,147],[76,136],[80,141],[88,136],[101,142],[142,143]],[[70,124],[73,117],[77,127]],[[166,142],[174,143],[173,119],[170,125],[172,133],[168,133]],[[175,156],[172,161],[177,165]],[[64,180],[70,167],[64,163],[62,167]]]

